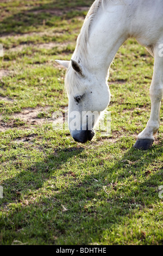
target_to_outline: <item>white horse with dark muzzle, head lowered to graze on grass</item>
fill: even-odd
[[[110,65],[123,42],[133,37],[155,59],[151,117],[134,145],[138,149],[152,147],[160,125],[163,94],[163,0],[96,0],[85,18],[71,61],[57,60],[67,68],[68,123],[75,141],[85,143],[93,138],[93,126],[110,102]],[[92,120],[87,113],[94,112],[98,114]]]

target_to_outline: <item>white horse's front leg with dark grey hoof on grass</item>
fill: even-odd
[[[160,106],[163,95],[163,57],[159,56],[159,47],[154,49],[154,72],[150,87],[151,97],[151,116],[148,120],[145,130],[138,136],[134,145],[136,149],[149,149],[154,142],[154,135],[158,132],[160,126]]]

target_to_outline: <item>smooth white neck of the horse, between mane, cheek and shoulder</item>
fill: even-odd
[[[128,38],[127,14],[124,5],[99,10],[92,21],[87,40],[85,69],[104,78],[118,49]]]

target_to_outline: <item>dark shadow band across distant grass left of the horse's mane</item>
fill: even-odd
[[[0,23],[0,35],[10,33],[28,33],[37,31],[37,28],[58,26],[58,21],[69,19],[79,14],[84,15],[82,7],[89,10],[93,1],[52,1],[42,3],[39,6],[30,6],[28,9],[20,10],[17,13],[4,17]],[[9,12],[10,13],[10,12]]]

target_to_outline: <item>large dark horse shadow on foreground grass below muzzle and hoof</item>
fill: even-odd
[[[26,172],[5,180],[5,186],[10,186],[10,189],[13,186],[15,191],[27,194],[29,201],[34,193],[42,196],[36,202],[25,204],[21,200],[21,194],[17,194],[17,203],[22,204],[8,213],[2,234],[7,229],[10,234],[4,232],[2,243],[5,244],[7,240],[11,243],[18,238],[20,240],[20,236],[22,242],[32,241],[35,244],[98,243],[103,241],[104,232],[109,234],[115,224],[121,225],[125,217],[134,216],[137,207],[143,210],[160,202],[158,186],[162,180],[161,169],[148,173],[148,165],[154,165],[162,156],[161,145],[148,151],[129,149],[114,164],[110,162],[106,166],[99,166],[99,170],[94,172],[89,171],[88,167],[88,172],[82,176],[84,178],[81,178],[83,173],[77,175],[76,170],[66,172],[64,164],[71,163],[74,156],[79,157],[82,162],[86,159],[83,153],[83,148],[57,151],[44,161],[33,164]],[[82,164],[79,164],[79,169],[82,171]],[[58,179],[63,176],[64,179],[58,183],[55,174],[60,174]],[[130,180],[131,175],[133,183]],[[44,182],[48,180],[49,186],[46,186],[45,191],[41,190]],[[132,186],[127,185],[127,180],[130,180],[129,184]],[[121,188],[118,182],[124,186]],[[5,198],[3,202],[5,204]],[[12,227],[11,222],[14,223]],[[23,231],[18,232],[20,229]],[[27,230],[28,235],[24,230]]]

